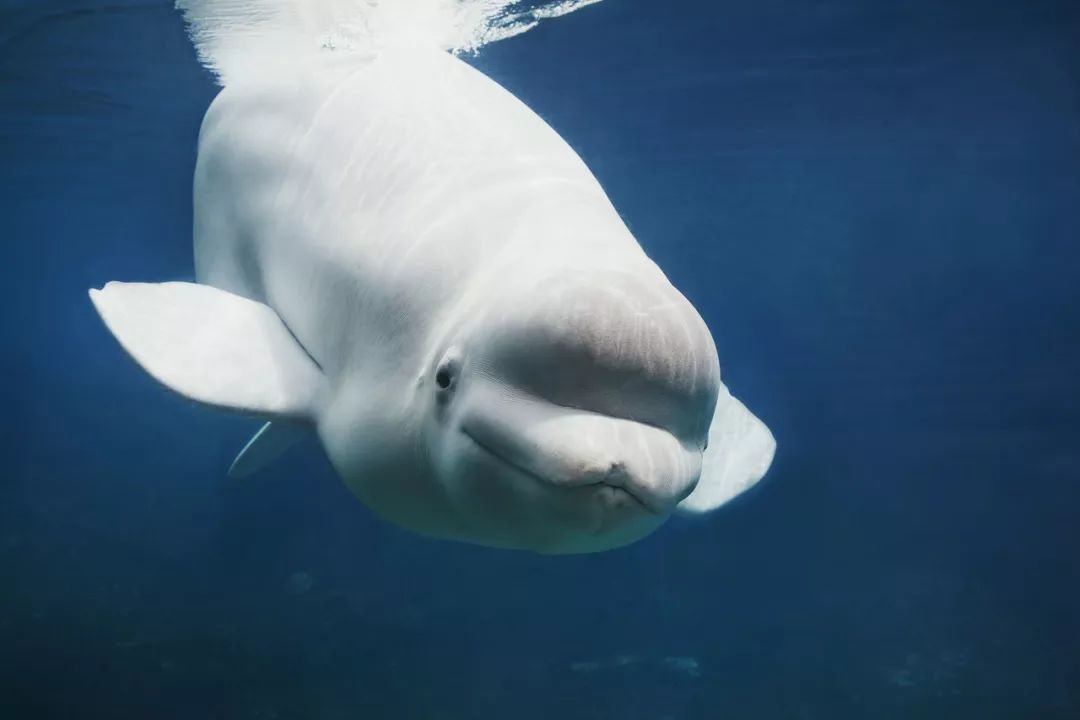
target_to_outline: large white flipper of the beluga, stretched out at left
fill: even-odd
[[[271,308],[194,283],[90,290],[127,354],[170,390],[271,420],[313,416],[323,373]]]

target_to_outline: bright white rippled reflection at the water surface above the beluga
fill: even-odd
[[[177,0],[203,65],[221,84],[268,63],[388,45],[472,53],[600,0]]]

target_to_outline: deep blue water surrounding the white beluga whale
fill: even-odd
[[[313,445],[227,481],[254,424],[85,297],[190,279],[212,80],[168,2],[3,0],[0,717],[1080,717],[1080,3],[608,0],[471,62],[702,311],[768,483],[545,558]]]

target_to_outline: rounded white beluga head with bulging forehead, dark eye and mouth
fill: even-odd
[[[421,391],[464,539],[589,553],[659,528],[698,483],[719,388],[698,313],[651,274],[541,274],[487,297]]]

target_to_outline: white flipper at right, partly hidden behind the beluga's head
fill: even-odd
[[[765,423],[720,385],[701,479],[678,510],[689,515],[714,511],[760,480],[777,451],[777,440]]]

